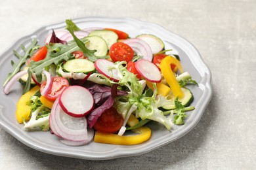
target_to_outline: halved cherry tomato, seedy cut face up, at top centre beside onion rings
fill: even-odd
[[[131,46],[123,43],[123,42],[116,42],[112,44],[110,47],[110,58],[116,61],[131,61],[133,59],[134,52]]]

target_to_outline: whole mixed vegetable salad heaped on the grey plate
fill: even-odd
[[[197,82],[156,35],[129,37],[66,20],[66,29],[53,30],[45,44],[32,39],[21,48],[3,84],[6,94],[17,81],[23,86],[16,120],[66,145],[139,144],[150,139],[148,122],[171,131],[195,109],[187,85]]]

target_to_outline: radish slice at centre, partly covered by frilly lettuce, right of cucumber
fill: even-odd
[[[112,65],[114,65],[114,63],[107,59],[97,59],[95,61],[95,69],[99,73],[110,78],[110,80],[114,80],[115,82],[118,82],[119,77],[118,77],[118,73],[117,73],[116,69],[113,69],[112,71],[108,70],[108,67],[110,67]]]

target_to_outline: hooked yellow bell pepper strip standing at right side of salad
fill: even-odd
[[[179,62],[178,59],[173,58],[171,56],[167,56],[163,58],[163,60],[160,63],[161,73],[163,74],[163,78],[165,78],[165,80],[169,84],[175,97],[179,96],[179,99],[182,99],[183,93],[181,91],[181,86],[179,85],[179,82],[176,80],[175,75],[171,70],[171,67],[170,67],[171,63],[175,64],[176,67],[178,67],[179,71],[181,71],[181,73],[184,72],[182,69],[181,63]]]

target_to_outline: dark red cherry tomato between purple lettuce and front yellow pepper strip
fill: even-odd
[[[114,107],[102,112],[93,126],[96,131],[116,133],[123,125],[123,116]]]

